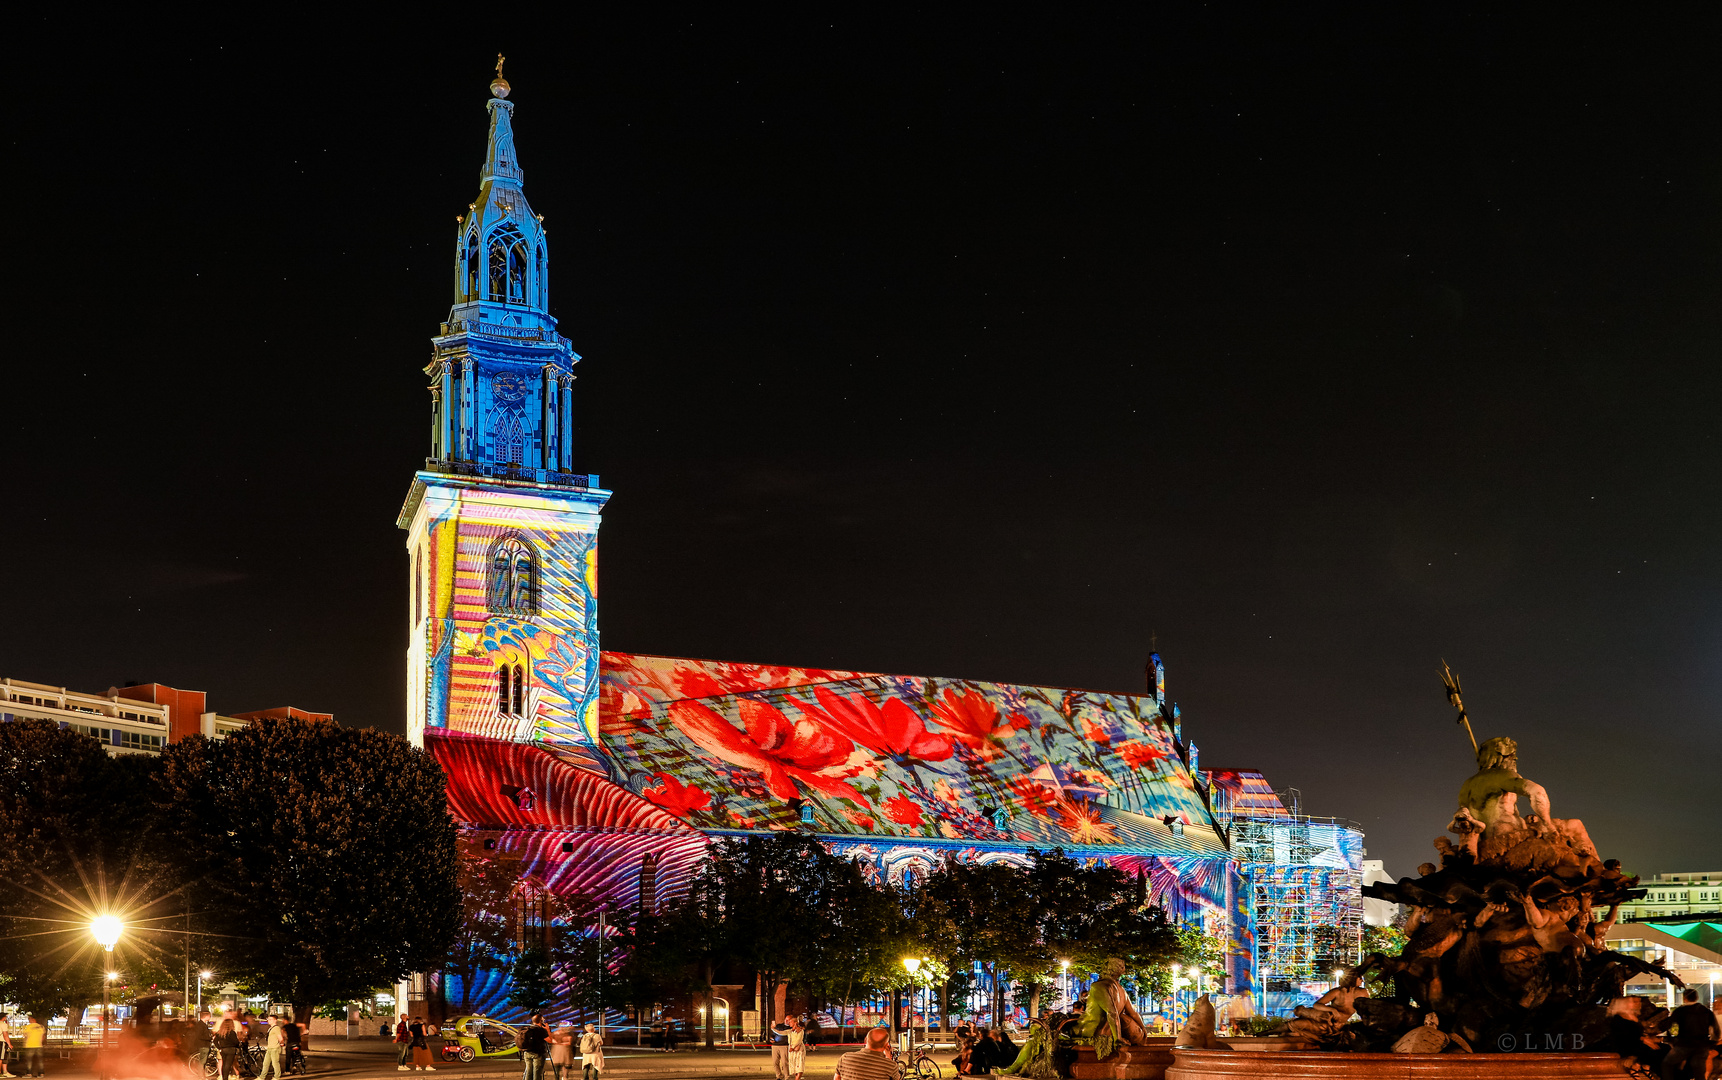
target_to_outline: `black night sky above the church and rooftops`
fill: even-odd
[[[0,675],[401,730],[505,52],[606,648],[1157,636],[1202,761],[1397,875],[1445,656],[1605,856],[1722,868],[1722,22],[1390,7],[14,21]]]

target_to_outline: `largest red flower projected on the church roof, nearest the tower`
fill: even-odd
[[[790,720],[778,710],[753,698],[735,703],[746,732],[697,701],[670,704],[670,718],[682,734],[701,748],[728,761],[751,768],[765,777],[766,787],[778,799],[801,798],[796,780],[833,798],[852,799],[868,806],[866,796],[844,782],[833,770],[849,761],[854,749],[847,739],[833,736],[811,720]],[[844,775],[854,775],[846,772]]]

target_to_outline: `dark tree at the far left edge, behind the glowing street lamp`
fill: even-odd
[[[148,767],[48,720],[0,723],[0,1001],[53,1015],[102,999],[110,959],[90,918],[162,899],[138,860]]]

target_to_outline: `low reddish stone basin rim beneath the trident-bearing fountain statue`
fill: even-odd
[[[1333,1054],[1173,1051],[1166,1080],[1620,1080],[1615,1054]],[[1075,1077],[1076,1073],[1071,1070]]]

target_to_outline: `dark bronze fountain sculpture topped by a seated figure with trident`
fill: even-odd
[[[1443,677],[1469,732],[1459,680],[1445,665]],[[1519,1051],[1629,1052],[1614,1044],[1636,1046],[1660,1009],[1624,999],[1626,982],[1651,973],[1681,984],[1660,965],[1607,947],[1620,904],[1645,894],[1638,878],[1624,875],[1619,861],[1598,858],[1583,822],[1553,816],[1548,791],[1519,773],[1512,739],[1476,746],[1472,736],[1472,746],[1477,772],[1459,789],[1448,825],[1457,839],[1434,841],[1441,865],[1424,863],[1415,878],[1364,887],[1364,896],[1409,911],[1403,951],[1366,958],[1328,996],[1335,1001],[1298,1009],[1290,1032],[1322,1049],[1350,1051],[1433,1042],[1446,1052],[1491,1051],[1510,1040]],[[1390,997],[1362,994],[1371,971],[1391,980]],[[1407,1040],[1424,1027],[1459,1039]]]

